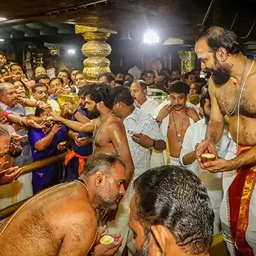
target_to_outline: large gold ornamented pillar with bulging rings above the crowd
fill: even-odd
[[[110,60],[106,57],[110,55],[111,47],[106,41],[110,34],[117,32],[105,28],[75,25],[75,33],[82,34],[87,41],[82,46],[82,54],[87,57],[83,62],[83,74],[88,84],[97,83],[100,74],[110,72]]]

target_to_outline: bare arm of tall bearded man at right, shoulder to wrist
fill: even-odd
[[[216,144],[222,134],[224,129],[224,117],[218,105],[218,101],[215,95],[215,85],[213,79],[210,78],[209,81],[209,93],[210,93],[210,121],[208,122],[207,131],[206,131],[206,140]]]

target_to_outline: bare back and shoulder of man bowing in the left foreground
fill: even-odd
[[[97,233],[95,210],[85,188],[77,182],[34,196],[6,223],[0,228],[0,234],[5,228],[0,235],[1,256],[82,256]]]

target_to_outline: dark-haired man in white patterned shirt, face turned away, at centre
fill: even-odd
[[[113,93],[113,112],[124,122],[129,149],[134,162],[133,181],[134,178],[137,178],[149,169],[151,149],[159,151],[166,149],[165,137],[161,133],[156,120],[150,114],[146,114],[137,107],[134,107],[134,99],[129,88],[122,85],[116,86],[113,88]],[[111,223],[107,223],[110,233],[121,233],[124,238],[122,247],[119,248],[117,255],[122,255],[122,250],[126,244],[129,250],[133,249],[128,246],[129,242],[132,241],[128,225],[129,203],[132,194],[133,191],[130,186],[120,202],[117,218]]]

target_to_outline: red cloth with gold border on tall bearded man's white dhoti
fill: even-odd
[[[238,155],[252,149],[252,146],[238,146]],[[249,222],[250,199],[255,188],[256,166],[244,166],[228,188],[229,218],[232,242],[236,256],[254,256],[252,247],[245,238]]]

